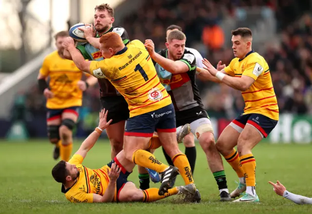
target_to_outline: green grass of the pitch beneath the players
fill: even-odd
[[[80,141],[75,142],[74,150]],[[184,151],[181,145],[182,151]],[[264,213],[312,213],[312,205],[296,205],[275,195],[267,182],[279,179],[289,191],[312,197],[312,170],[310,163],[312,145],[261,144],[255,147],[257,161],[257,194],[259,204],[233,204],[219,202],[219,192],[206,157],[197,145],[195,183],[199,189],[200,204],[177,204],[172,198],[155,203],[109,203],[72,204],[60,192],[60,185],[51,176],[56,164],[52,159],[52,146],[47,140],[32,142],[0,141],[0,213],[15,214],[143,214],[143,213],[220,213],[220,214],[264,214]],[[156,157],[164,161],[162,151]],[[110,161],[110,145],[98,142],[85,158],[84,165],[98,168]],[[224,163],[230,191],[236,187],[236,174],[229,164]],[[137,169],[129,179],[138,185]],[[182,185],[180,176],[176,185]],[[152,184],[158,187],[159,184]]]

